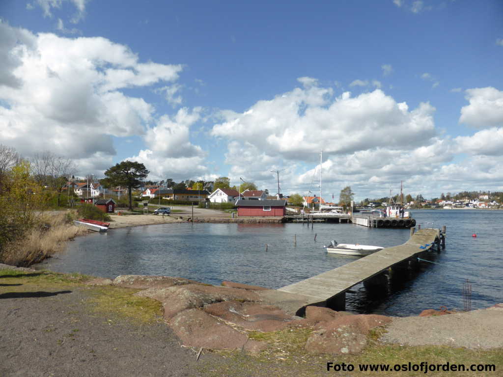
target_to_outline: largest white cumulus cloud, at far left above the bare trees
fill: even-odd
[[[5,23],[0,34],[0,140],[27,157],[42,150],[75,160],[115,155],[112,137],[162,124],[151,104],[121,89],[174,82],[182,70],[140,62],[101,37],[34,35]]]

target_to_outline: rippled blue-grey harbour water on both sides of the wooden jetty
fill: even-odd
[[[404,316],[441,305],[463,309],[466,279],[472,287],[472,308],[503,302],[503,211],[430,210],[413,215],[422,227],[447,226],[445,250],[429,257],[436,264],[423,263],[408,279],[393,280],[381,297],[356,286],[355,293],[347,295],[348,310]],[[327,254],[323,245],[331,239],[388,247],[408,237],[408,229],[353,224],[314,224],[314,229],[306,224],[150,225],[77,238],[66,253],[39,266],[111,278],[159,274],[214,285],[231,280],[280,288],[355,260]]]

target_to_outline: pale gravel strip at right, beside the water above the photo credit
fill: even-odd
[[[503,304],[467,313],[395,318],[382,341],[408,345],[503,347]]]

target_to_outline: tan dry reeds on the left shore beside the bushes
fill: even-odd
[[[71,214],[41,215],[38,225],[28,230],[22,239],[6,245],[2,262],[16,266],[38,263],[65,248],[65,241],[87,233],[73,225]]]

